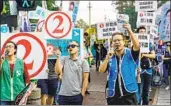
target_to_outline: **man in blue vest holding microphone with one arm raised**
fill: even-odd
[[[108,72],[106,85],[106,98],[108,105],[136,105],[135,92],[138,90],[135,71],[139,57],[139,41],[129,24],[124,24],[133,43],[131,49],[124,47],[125,36],[114,33],[112,36],[112,49],[109,50],[105,60],[99,67],[99,72]]]

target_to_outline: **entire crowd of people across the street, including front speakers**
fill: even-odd
[[[149,53],[141,53],[138,37],[131,30],[130,24],[123,27],[129,35],[129,43],[125,44],[123,33],[114,33],[110,48],[94,43],[95,54],[92,53],[88,33],[84,33],[84,58],[79,55],[80,45],[71,41],[67,50],[69,56],[61,56],[60,48],[54,51],[56,59],[48,59],[48,79],[39,79],[37,87],[41,89],[41,104],[82,105],[88,92],[92,58],[96,63],[96,71],[107,72],[106,100],[108,105],[148,105],[149,93],[154,79],[154,66],[163,72],[166,90],[169,90],[169,70],[171,51],[170,42],[151,46]],[[137,33],[145,34],[146,28],[141,26]],[[166,46],[162,54],[158,48]],[[1,57],[0,68],[0,104],[14,104],[16,96],[30,83],[27,68],[23,60],[16,57],[17,45],[6,43],[5,55]]]

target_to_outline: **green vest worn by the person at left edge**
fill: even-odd
[[[0,81],[0,100],[14,101],[16,96],[25,88],[23,61],[16,59],[13,77],[11,78],[9,63],[4,60],[1,66]]]

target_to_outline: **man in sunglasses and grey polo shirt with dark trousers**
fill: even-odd
[[[71,41],[67,47],[69,56],[57,56],[55,71],[62,76],[59,105],[82,105],[90,68],[88,62],[79,56],[79,47],[76,41]]]

